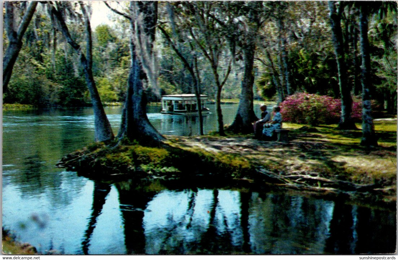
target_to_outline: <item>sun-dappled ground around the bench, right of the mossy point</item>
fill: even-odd
[[[309,128],[294,124],[287,124],[293,130],[288,144],[259,141],[251,136],[176,136],[170,140],[217,156],[246,158],[259,174],[266,175],[265,182],[275,182],[278,186],[318,193],[346,193],[376,202],[395,203],[396,121],[376,124],[380,146],[369,149],[358,145],[360,130],[339,131],[333,126]],[[243,176],[242,179],[258,182],[256,176],[254,180],[250,178]]]

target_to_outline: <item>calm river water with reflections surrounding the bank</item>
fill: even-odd
[[[197,118],[148,117],[162,134],[197,134]],[[120,108],[107,108],[115,132]],[[236,105],[225,105],[224,123]],[[204,118],[216,129],[215,114]],[[395,251],[396,213],[287,194],[102,183],[54,165],[92,142],[91,109],[3,112],[3,226],[62,254],[351,254]]]

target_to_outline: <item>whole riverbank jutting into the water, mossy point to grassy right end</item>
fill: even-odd
[[[396,121],[375,121],[379,147],[371,149],[359,146],[361,130],[289,123],[284,128],[291,130],[287,144],[252,136],[167,136],[160,147],[94,144],[67,155],[59,166],[94,179],[205,181],[395,206]]]

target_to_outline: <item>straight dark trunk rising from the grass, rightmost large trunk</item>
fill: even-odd
[[[372,105],[371,105],[371,85],[369,74],[371,72],[371,58],[369,53],[368,40],[368,12],[367,4],[359,7],[359,35],[360,49],[362,56],[362,139],[363,146],[377,146],[375,127],[373,125]]]

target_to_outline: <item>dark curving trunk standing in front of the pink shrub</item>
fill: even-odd
[[[334,45],[334,54],[336,55],[339,88],[341,95],[341,117],[339,128],[341,129],[357,129],[352,118],[352,99],[351,89],[347,84],[347,67],[344,59],[343,32],[341,30],[340,20],[341,11],[336,11],[335,2],[329,1],[329,16],[332,26],[332,40]],[[341,5],[341,3],[340,3]],[[341,6],[339,7],[341,8]]]

